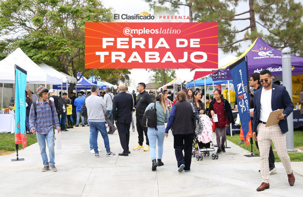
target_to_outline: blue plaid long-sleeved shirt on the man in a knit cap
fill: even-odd
[[[51,106],[47,101],[44,101],[43,104],[41,104],[41,102],[38,100],[36,101],[37,116],[35,114],[33,104],[31,105],[30,130],[34,129],[36,132],[39,132],[41,134],[47,134],[48,132],[53,131],[54,126],[56,129],[60,128],[55,104],[51,100],[49,100],[49,102],[52,102],[53,109],[51,109]]]

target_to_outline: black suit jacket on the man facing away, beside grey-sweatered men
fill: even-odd
[[[148,95],[150,96],[150,95]],[[113,99],[113,117],[117,123],[131,123],[131,111],[134,103],[132,95],[121,92]]]

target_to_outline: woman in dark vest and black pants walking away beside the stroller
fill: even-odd
[[[192,142],[194,139],[193,108],[186,101],[186,94],[183,91],[177,93],[178,102],[173,105],[169,115],[168,124],[165,129],[165,136],[173,127],[175,155],[178,162],[178,171],[190,171]],[[197,111],[195,110],[195,113]],[[183,155],[184,150],[184,155]]]

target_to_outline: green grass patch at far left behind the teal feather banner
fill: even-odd
[[[36,135],[27,134],[27,146],[37,142]],[[19,149],[22,149],[22,144],[19,144]],[[14,133],[0,133],[0,150],[1,151],[15,151],[15,134]]]

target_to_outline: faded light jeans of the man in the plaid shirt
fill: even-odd
[[[55,141],[54,141],[54,132],[49,131],[47,134],[41,134],[36,131],[36,137],[37,141],[40,147],[40,154],[42,157],[43,165],[49,166],[49,165],[55,165]],[[47,147],[49,150],[49,157],[50,161],[48,162],[47,155],[46,155],[46,145],[45,145],[45,138],[47,142]]]

